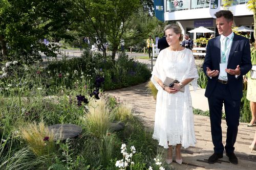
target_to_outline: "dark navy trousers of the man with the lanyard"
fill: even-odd
[[[212,92],[212,95],[210,98],[208,98],[208,103],[210,110],[211,137],[212,143],[214,143],[214,152],[223,153],[224,151],[221,129],[222,106],[224,103],[227,124],[227,139],[225,150],[226,153],[232,153],[234,151],[233,145],[236,142],[238,134],[241,100],[233,100],[231,98],[228,85],[218,82],[215,90]]]

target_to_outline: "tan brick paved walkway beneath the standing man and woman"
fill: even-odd
[[[155,105],[156,101],[151,95],[148,95],[145,83],[133,87],[108,91],[107,93],[119,97],[123,102],[133,106],[135,114],[138,115],[142,122],[153,129]],[[204,89],[199,89],[196,92],[190,90],[193,100],[193,107],[207,110],[207,100],[204,97]],[[250,153],[249,145],[253,140],[255,127],[247,127],[245,123],[239,126],[237,142],[235,144],[235,153],[238,157],[238,165],[231,164],[228,157],[224,154],[223,158],[215,164],[208,164],[207,159],[213,153],[213,145],[211,142],[210,122],[206,116],[195,115],[195,132],[197,143],[195,147],[182,149],[183,163],[179,165],[172,163],[175,169],[232,169],[252,170],[256,168],[256,151]],[[226,123],[222,120],[223,143],[226,137]]]

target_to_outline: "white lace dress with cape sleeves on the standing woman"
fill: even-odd
[[[159,145],[168,148],[169,145],[182,144],[184,148],[195,145],[194,116],[188,85],[185,92],[167,93],[154,80],[154,76],[164,82],[166,77],[179,81],[194,78],[190,82],[197,89],[198,72],[193,53],[185,48],[182,51],[162,50],[152,71],[151,81],[158,89],[155,128],[153,138]]]

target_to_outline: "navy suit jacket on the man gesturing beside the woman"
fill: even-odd
[[[208,83],[205,90],[205,96],[207,98],[209,98],[212,94],[212,91],[214,91],[218,81],[218,76],[212,77],[212,79],[210,79],[206,74],[206,67],[209,67],[211,70],[220,70],[220,37],[221,36],[210,39],[206,47],[206,56],[204,59],[203,70],[206,77],[208,78]],[[228,56],[227,68],[236,69],[237,65],[239,65],[241,74],[237,78],[236,76],[227,74],[227,86],[230,90],[231,98],[233,100],[241,100],[243,96],[243,75],[245,75],[252,67],[250,56],[249,39],[234,34]]]

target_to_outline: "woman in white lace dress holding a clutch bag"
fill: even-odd
[[[172,146],[176,146],[175,159],[182,164],[181,146],[187,148],[196,143],[188,84],[197,89],[198,72],[192,51],[180,45],[183,39],[180,27],[168,25],[164,33],[170,46],[159,53],[151,78],[158,89],[153,138],[168,149],[166,163],[172,163]],[[180,83],[175,83],[172,88],[165,86],[163,82],[166,77]],[[185,88],[184,92],[180,91],[182,87]]]

